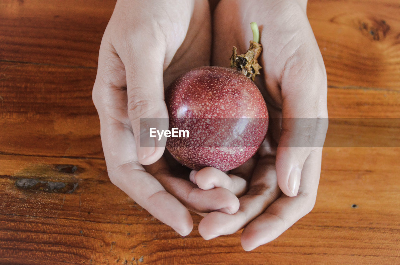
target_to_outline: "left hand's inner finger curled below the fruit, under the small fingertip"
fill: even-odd
[[[190,181],[172,176],[164,157],[146,166],[146,171],[193,212],[219,211],[233,214],[239,208],[238,198],[226,188],[202,190]]]

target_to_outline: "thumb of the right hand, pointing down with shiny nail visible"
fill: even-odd
[[[322,58],[315,55],[302,59],[307,63],[289,68],[282,78],[276,173],[280,189],[288,196],[297,195],[304,162],[310,153],[322,148],[328,126],[326,74],[323,63],[322,67],[319,63]]]

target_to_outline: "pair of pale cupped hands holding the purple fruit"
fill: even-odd
[[[189,211],[204,216],[198,226],[204,239],[244,228],[247,251],[310,212],[322,157],[322,146],[314,143],[323,143],[327,130],[317,118],[328,112],[326,71],[306,4],[221,0],[211,14],[207,0],[118,0],[93,88],[112,183],[182,236],[193,229]],[[164,87],[180,74],[204,65],[229,67],[232,46],[240,53],[248,49],[253,21],[263,45],[256,84],[272,118],[266,140],[230,172],[173,172],[164,145],[155,140],[140,147],[146,133],[140,118],[168,117]]]

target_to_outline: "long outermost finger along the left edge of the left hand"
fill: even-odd
[[[99,53],[99,67],[93,88],[93,102],[99,113],[100,134],[112,183],[123,190],[152,216],[185,236],[193,228],[184,205],[138,163],[136,142],[127,114],[128,98],[124,65],[105,39]]]

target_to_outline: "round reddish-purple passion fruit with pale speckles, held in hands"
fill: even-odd
[[[168,138],[166,148],[191,169],[229,171],[250,159],[264,141],[268,129],[264,98],[239,71],[192,69],[168,86],[165,101],[170,130],[189,131],[188,138]]]

